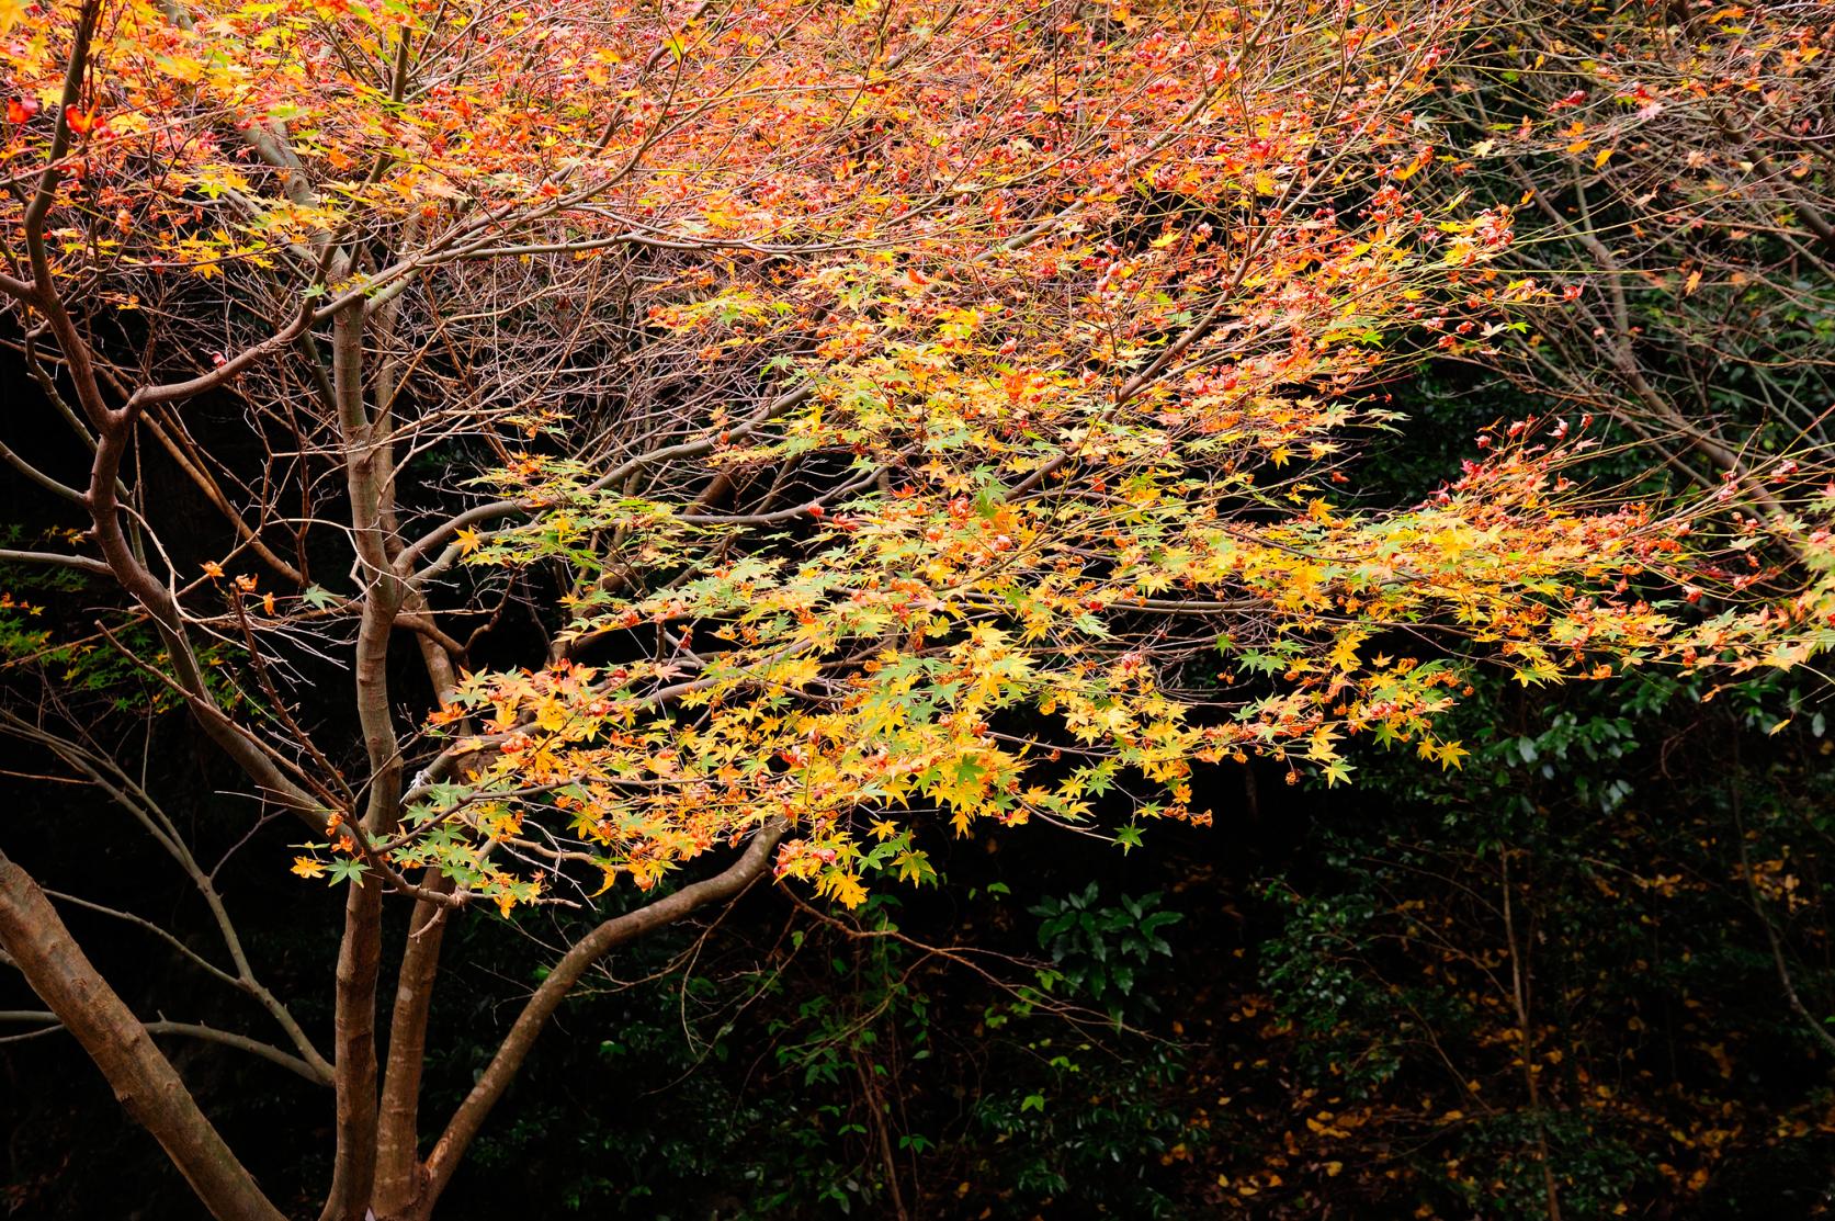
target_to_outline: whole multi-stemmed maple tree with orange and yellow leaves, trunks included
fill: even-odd
[[[11,635],[4,723],[176,859],[284,1043],[141,1023],[0,859],[48,1019],[217,1215],[279,1214],[149,1032],[332,1089],[323,1215],[428,1215],[582,975],[762,876],[851,907],[985,819],[1129,846],[1251,753],[1455,767],[1470,648],[1523,683],[1807,659],[1831,593],[1721,567],[1758,531],[1723,501],[1587,490],[1585,420],[1488,430],[1418,505],[1343,487],[1391,367],[1485,354],[1552,296],[1496,266],[1512,207],[1424,191],[1418,108],[1472,18],[0,0],[0,292],[90,455],[72,481],[7,442],[62,532],[0,558],[114,591],[88,639]],[[1826,551],[1811,466],[1752,476],[1796,556]],[[294,874],[347,887],[323,1050],[88,729],[95,657],[303,826]],[[327,657],[354,733],[306,712]],[[1130,813],[1097,828],[1099,797]],[[571,944],[424,1148],[459,913],[734,848]],[[387,898],[413,913],[382,1030]]]

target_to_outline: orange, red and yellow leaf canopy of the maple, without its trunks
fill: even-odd
[[[573,863],[650,887],[773,819],[780,870],[855,903],[927,876],[925,817],[1204,819],[1195,764],[1340,782],[1360,736],[1453,767],[1433,722],[1472,644],[1540,683],[1824,643],[1817,591],[1707,628],[1659,606],[1685,521],[1578,503],[1560,446],[1424,505],[1334,496],[1352,430],[1391,422],[1358,393],[1400,330],[1485,343],[1541,296],[1490,266],[1508,211],[1409,196],[1437,163],[1409,103],[1455,33],[1428,6],[1297,22],[1279,55],[1204,6],[106,7],[77,119],[75,0],[0,9],[0,173],[81,127],[55,274],[316,299],[653,248],[644,321],[697,376],[800,393],[708,420],[708,457],[846,470],[723,521],[684,483],[604,487],[554,404],[503,420],[530,446],[484,483],[528,514],[453,558],[571,571],[562,643],[607,661],[470,676],[435,718],[464,780],[395,854],[506,907]],[[400,257],[323,283],[350,231]]]

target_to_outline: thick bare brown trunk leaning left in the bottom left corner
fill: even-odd
[[[147,1028],[72,940],[44,891],[4,854],[0,946],[95,1061],[127,1113],[165,1148],[213,1217],[283,1221]]]

